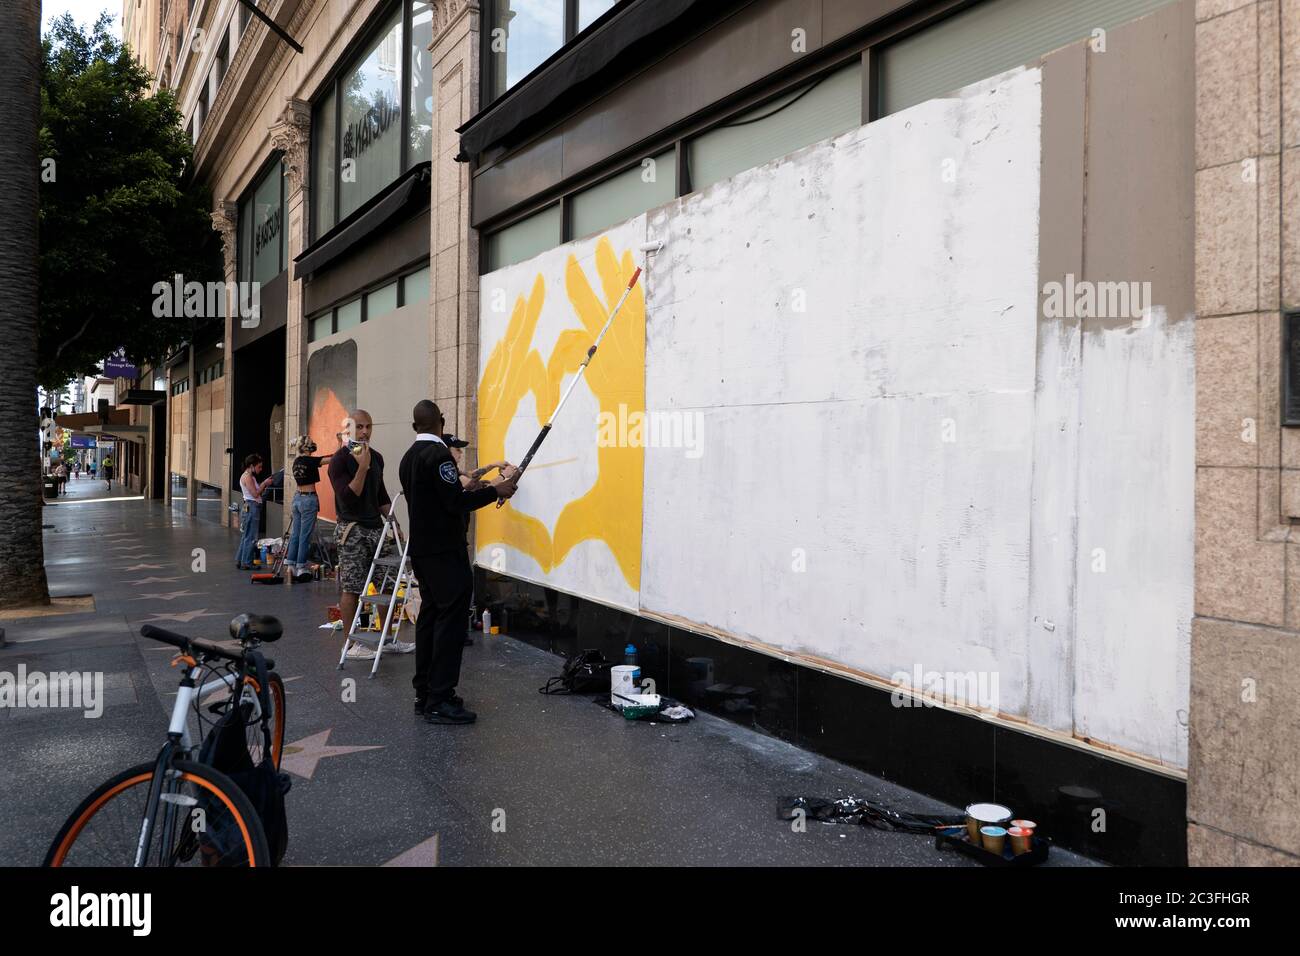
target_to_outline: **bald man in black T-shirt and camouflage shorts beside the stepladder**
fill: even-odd
[[[384,455],[370,447],[374,420],[365,408],[352,410],[351,419],[351,438],[346,432],[341,434],[339,450],[329,459],[329,483],[334,488],[334,509],[338,512],[334,524],[338,578],[343,592],[338,609],[344,628],[350,628],[356,617],[358,597],[365,588],[370,561],[384,535],[384,516],[393,503],[384,486]],[[391,641],[384,648],[410,654],[415,644]],[[351,661],[372,661],[374,652],[354,643],[347,649],[347,657]]]

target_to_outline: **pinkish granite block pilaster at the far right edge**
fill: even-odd
[[[1196,3],[1196,618],[1188,860],[1300,865],[1300,0]],[[1290,230],[1290,232],[1288,232]]]

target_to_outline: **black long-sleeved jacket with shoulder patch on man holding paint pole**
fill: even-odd
[[[411,512],[411,557],[465,553],[465,515],[497,501],[495,488],[467,492],[447,446],[417,441],[398,466]]]

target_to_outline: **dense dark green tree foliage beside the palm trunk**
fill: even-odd
[[[155,284],[224,278],[176,99],[150,95],[109,22],[83,33],[65,14],[43,40],[38,381],[51,388],[120,346],[136,364],[160,360],[192,320],[155,316]]]

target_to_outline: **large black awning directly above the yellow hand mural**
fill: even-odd
[[[582,31],[536,70],[481,111],[456,133],[467,161],[484,150],[516,142],[608,88],[610,79],[633,72],[666,52],[675,36],[751,0],[632,0]],[[607,17],[607,20],[606,20]]]

